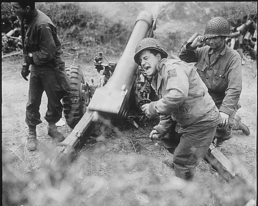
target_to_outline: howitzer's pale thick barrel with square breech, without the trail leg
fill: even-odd
[[[104,87],[96,89],[94,98],[92,98],[88,106],[90,110],[126,116],[127,108],[125,104],[129,98],[137,70],[137,64],[133,58],[135,48],[147,36],[152,22],[153,18],[149,12],[143,11],[139,14],[134,30],[113,75]],[[105,101],[104,104],[103,100]]]

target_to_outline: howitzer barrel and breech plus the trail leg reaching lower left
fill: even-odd
[[[133,58],[134,51],[137,44],[147,36],[152,23],[152,14],[147,11],[139,14],[134,30],[113,75],[104,87],[97,88],[94,92],[86,113],[68,137],[59,144],[59,147],[56,147],[46,162],[48,165],[59,169],[65,167],[73,159],[75,149],[82,147],[90,137],[94,124],[101,122],[101,117],[106,115],[110,117],[112,114],[126,115],[125,104],[129,99],[137,70],[137,64]]]

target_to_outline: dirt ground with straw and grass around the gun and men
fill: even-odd
[[[251,134],[234,131],[221,152],[256,188],[257,65],[245,60],[242,107],[237,113]],[[88,78],[99,77],[93,65],[78,63]],[[78,151],[65,175],[43,167],[56,147],[43,118],[47,98],[43,94],[38,147],[29,152],[25,148],[28,82],[20,75],[20,65],[21,58],[2,60],[3,205],[245,205],[255,198],[256,191],[239,182],[227,183],[205,161],[197,167],[192,183],[175,178],[174,170],[164,163],[173,155],[148,138],[155,119],[141,124],[143,131],[127,120],[100,127],[99,135]],[[65,136],[71,132],[67,125],[58,129]]]

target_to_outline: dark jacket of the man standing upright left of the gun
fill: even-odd
[[[62,88],[69,91],[70,85],[65,71],[63,49],[51,19],[35,9],[32,18],[25,20],[25,25],[24,62],[38,69],[49,67],[57,69],[56,75]],[[30,57],[29,53],[33,56]]]

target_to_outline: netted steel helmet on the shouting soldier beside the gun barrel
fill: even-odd
[[[145,49],[155,49],[161,53],[161,58],[167,58],[168,54],[165,52],[162,44],[154,38],[144,38],[135,48],[134,61],[139,64],[140,53]]]

